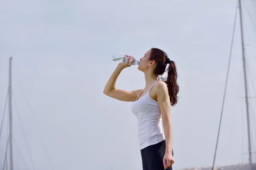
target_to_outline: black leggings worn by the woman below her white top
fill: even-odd
[[[143,170],[164,170],[163,156],[165,154],[165,150],[165,140],[140,150]],[[169,167],[166,170],[172,170],[172,167]]]

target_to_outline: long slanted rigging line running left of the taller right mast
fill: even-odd
[[[214,170],[214,165],[215,165],[216,153],[217,153],[217,148],[218,148],[218,139],[219,139],[219,135],[220,135],[221,121],[222,121],[224,103],[225,103],[225,98],[226,98],[227,81],[228,81],[228,76],[229,76],[230,61],[231,61],[231,56],[232,56],[234,35],[235,35],[235,30],[236,30],[236,18],[237,18],[237,11],[238,11],[237,9],[238,9],[238,2],[236,4],[236,14],[235,14],[235,21],[234,21],[234,26],[233,26],[233,34],[232,34],[231,47],[230,47],[230,56],[229,56],[229,61],[228,61],[228,66],[227,66],[227,77],[226,77],[226,82],[225,82],[225,87],[224,87],[224,96],[223,96],[222,107],[221,107],[221,118],[220,118],[219,127],[218,127],[218,135],[217,135],[217,142],[216,142],[216,146],[215,146],[212,170]]]

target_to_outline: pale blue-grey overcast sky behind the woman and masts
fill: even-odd
[[[256,22],[256,1],[244,3]],[[15,167],[33,170],[24,130],[35,170],[111,170],[111,165],[113,170],[142,170],[132,103],[105,96],[103,88],[117,65],[113,53],[140,59],[152,47],[166,51],[177,64],[173,167],[211,166],[235,11],[236,0],[1,0],[0,118],[12,56],[13,96],[22,122],[13,101]],[[243,14],[245,44],[250,45],[249,96],[255,97],[256,29],[245,9]],[[240,38],[238,18],[216,165],[248,162],[242,154],[248,145],[245,104],[239,99],[244,97]],[[144,81],[131,66],[116,87],[136,90],[145,87]],[[249,102],[255,152],[256,99]]]

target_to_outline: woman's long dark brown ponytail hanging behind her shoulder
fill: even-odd
[[[176,105],[178,102],[177,94],[178,94],[180,88],[177,83],[177,77],[178,77],[178,75],[177,75],[175,62],[170,60],[169,68],[168,68],[168,76],[164,82],[167,85],[168,93],[170,96],[170,101],[171,101],[172,106]]]

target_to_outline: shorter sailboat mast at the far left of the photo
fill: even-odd
[[[12,156],[12,57],[9,59],[9,144],[10,144],[10,170],[13,170]]]

